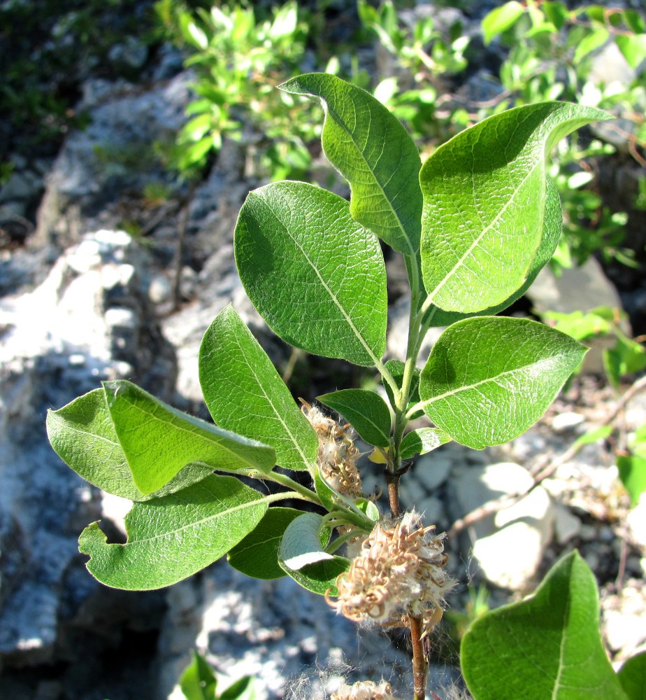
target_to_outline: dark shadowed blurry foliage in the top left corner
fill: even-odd
[[[136,80],[154,38],[148,0],[0,2],[0,153],[55,153],[84,116],[90,76]]]

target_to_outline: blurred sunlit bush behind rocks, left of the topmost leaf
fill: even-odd
[[[189,10],[175,0],[155,8],[167,36],[195,73],[189,121],[170,154],[182,173],[200,172],[222,139],[243,141],[247,166],[271,180],[303,177],[308,145],[320,135],[317,108],[275,87],[301,72],[308,24],[295,1],[269,15],[252,6]]]

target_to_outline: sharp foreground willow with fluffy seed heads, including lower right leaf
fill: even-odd
[[[224,554],[254,577],[289,575],[351,619],[408,627],[413,694],[422,698],[420,636],[440,619],[451,582],[443,535],[419,514],[400,512],[399,479],[416,454],[450,440],[482,449],[520,435],[579,365],[585,349],[574,339],[496,314],[524,293],[559,241],[561,209],[547,155],[573,130],[608,116],[564,102],[522,106],[461,132],[422,165],[401,123],[358,87],[323,73],[280,87],[322,104],[324,152],[352,196],[347,202],[294,181],[252,191],[236,226],[236,264],[250,299],[282,339],[380,374],[385,398],[345,388],[319,400],[373,445],[373,461],[385,466],[389,517],[361,493],[354,432],[317,407],[296,405],[232,307],[217,315],[199,353],[215,425],[117,380],[50,412],[48,433],[73,470],[134,502],[127,542],[108,543],[96,522],[80,535],[99,581],[155,589]],[[382,242],[403,255],[408,270],[405,362],[384,358]],[[419,369],[433,326],[447,328]],[[407,431],[418,415],[429,426]],[[267,494],[241,475],[283,488]],[[286,499],[306,502],[306,512],[275,505]],[[474,624],[463,670],[476,699],[629,697],[603,654],[589,579],[570,555],[533,602]],[[592,688],[580,694],[593,675]]]

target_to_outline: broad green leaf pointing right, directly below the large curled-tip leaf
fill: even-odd
[[[526,318],[459,321],[443,332],[422,370],[424,412],[473,449],[508,442],[543,415],[586,351]]]

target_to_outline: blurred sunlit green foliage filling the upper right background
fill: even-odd
[[[646,163],[646,27],[635,10],[598,5],[570,10],[562,2],[533,0],[513,0],[492,10],[482,20],[482,35],[487,45],[497,41],[506,56],[498,74],[500,92],[472,109],[446,106],[437,90],[438,76],[468,67],[468,39],[459,25],[450,27],[447,36],[435,31],[431,18],[411,25],[391,0],[378,9],[359,0],[359,15],[399,67],[399,75],[380,83],[375,94],[408,124],[424,150],[499,111],[564,99],[614,113],[619,120],[608,129],[640,164]],[[612,44],[626,61],[626,78],[604,83],[595,75],[594,59]],[[399,83],[414,87],[398,94]],[[612,211],[598,191],[601,162],[612,153],[615,146],[608,141],[570,137],[553,157],[550,176],[564,209],[564,234],[552,260],[555,269],[582,264],[593,253],[636,266],[634,251],[622,246],[628,214]],[[643,182],[636,206],[646,191]]]

